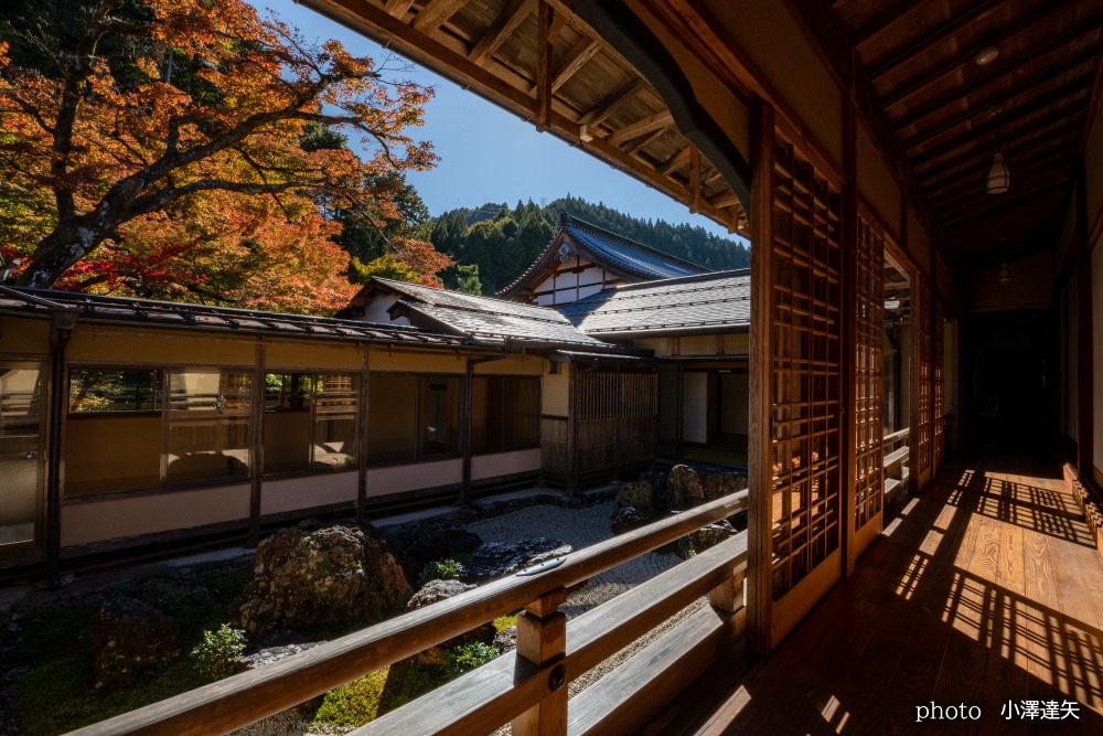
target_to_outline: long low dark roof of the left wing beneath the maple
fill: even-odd
[[[467,340],[456,335],[396,324],[12,287],[0,287],[0,313],[40,318],[67,313],[74,314],[78,322],[287,334],[358,342],[441,346],[467,343]]]

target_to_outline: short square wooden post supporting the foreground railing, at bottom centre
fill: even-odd
[[[517,655],[544,666],[567,653],[567,616],[559,606],[567,588],[556,588],[525,606],[517,616]],[[539,704],[513,719],[513,736],[566,736],[566,671],[556,668],[548,679],[548,693]]]

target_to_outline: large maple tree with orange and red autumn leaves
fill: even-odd
[[[355,287],[325,210],[384,233],[403,220],[394,182],[435,161],[409,132],[431,90],[243,0],[75,4],[69,43],[31,39],[38,63],[0,42],[0,247],[23,257],[17,282],[343,306]],[[358,134],[364,159],[304,145],[308,126]],[[416,237],[387,244],[422,280],[450,263]]]

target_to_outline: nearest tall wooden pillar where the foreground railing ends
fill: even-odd
[[[747,470],[747,644],[760,654],[771,648],[770,504],[772,433],[771,319],[773,290],[774,111],[759,102],[751,118],[751,326]]]

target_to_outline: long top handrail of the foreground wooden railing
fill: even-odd
[[[743,510],[740,491],[607,540],[546,573],[508,577],[251,670],[74,732],[224,734],[292,707],[351,680],[413,657],[559,588],[673,542]],[[538,668],[534,668],[538,669]]]

